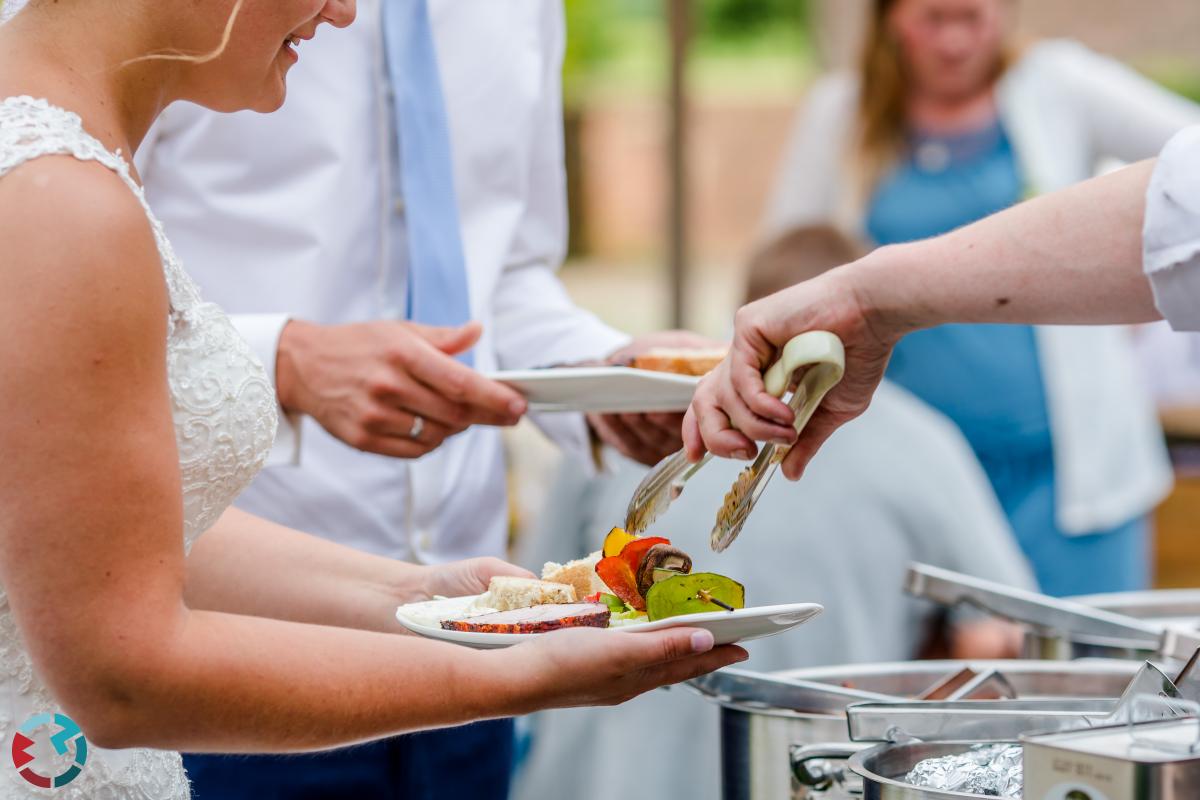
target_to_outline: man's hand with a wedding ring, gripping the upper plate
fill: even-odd
[[[480,332],[478,323],[290,321],[276,357],[280,403],[352,447],[396,458],[424,456],[472,425],[516,425],[524,398],[452,357]]]

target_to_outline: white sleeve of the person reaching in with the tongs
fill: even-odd
[[[1177,331],[1200,331],[1200,126],[1168,143],[1146,192],[1142,264]]]

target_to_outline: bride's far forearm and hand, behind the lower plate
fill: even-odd
[[[192,546],[184,599],[193,609],[395,632],[396,606],[476,594],[496,575],[529,577],[493,558],[406,564],[230,509]]]

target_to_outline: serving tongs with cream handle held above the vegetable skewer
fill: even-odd
[[[782,398],[792,389],[787,405],[796,413],[797,434],[804,431],[826,393],[841,380],[845,363],[841,339],[828,331],[809,331],[785,344],[779,360],[763,375],[767,391],[775,397]],[[797,378],[800,369],[804,372]],[[716,515],[710,537],[714,551],[720,553],[742,533],[746,517],[788,450],[790,445],[768,443],[754,463],[738,475]],[[706,455],[690,464],[688,453],[680,450],[659,462],[634,491],[625,511],[625,530],[643,533],[683,493],[684,485],[710,457]]]

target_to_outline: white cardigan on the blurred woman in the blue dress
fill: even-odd
[[[768,206],[764,237],[833,223],[865,239],[865,207],[847,174],[858,85],[817,82],[797,119]],[[1052,192],[1091,178],[1103,160],[1158,154],[1200,107],[1069,41],[1031,47],[997,88],[1001,122],[1026,186]],[[1056,517],[1069,535],[1141,516],[1170,491],[1162,429],[1135,369],[1128,330],[1036,326],[1056,473]]]

